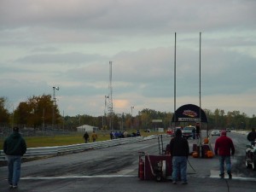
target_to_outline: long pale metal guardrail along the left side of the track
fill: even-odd
[[[66,146],[55,146],[55,147],[44,147],[44,148],[27,148],[26,154],[23,158],[30,159],[35,157],[44,157],[44,156],[55,156],[61,154],[72,154],[78,153],[90,149],[96,148],[108,148],[116,145],[122,145],[126,143],[136,143],[142,142],[149,139],[154,139],[156,136],[149,137],[128,137],[128,138],[119,138],[108,141],[96,142],[96,143],[81,143],[73,144]],[[5,160],[5,154],[3,150],[0,150],[0,161]]]

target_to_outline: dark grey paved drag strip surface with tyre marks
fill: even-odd
[[[236,145],[233,178],[218,178],[218,157],[212,159],[189,156],[188,179],[183,185],[171,180],[156,182],[137,177],[138,151],[158,154],[158,140],[131,143],[112,148],[67,154],[22,164],[18,189],[9,189],[7,167],[0,167],[0,191],[35,192],[167,192],[167,191],[221,191],[255,192],[256,172],[244,165],[247,141],[244,135],[230,133]],[[212,147],[216,137],[211,138]],[[163,146],[170,137],[163,138]],[[192,148],[195,140],[189,140]]]

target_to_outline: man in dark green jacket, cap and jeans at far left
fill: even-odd
[[[13,133],[3,143],[3,152],[8,160],[8,182],[11,188],[17,188],[20,180],[21,156],[26,153],[26,142],[19,133],[19,128],[14,127]]]

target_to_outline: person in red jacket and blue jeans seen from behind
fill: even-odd
[[[220,171],[219,177],[224,178],[225,162],[229,178],[232,178],[230,154],[235,154],[235,147],[230,137],[227,137],[226,131],[222,131],[221,136],[218,137],[218,139],[216,140],[214,153],[218,155]]]

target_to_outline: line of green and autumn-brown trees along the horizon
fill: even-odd
[[[17,108],[9,112],[8,98],[0,97],[0,126],[13,127],[18,125],[32,129],[64,129],[76,131],[79,125],[92,125],[103,130],[129,130],[169,128],[172,126],[171,112],[160,112],[145,108],[136,116],[131,113],[112,113],[106,116],[93,117],[89,114],[61,116],[52,96],[31,96],[26,102],[20,102]],[[248,117],[246,113],[232,111],[225,113],[222,109],[203,109],[207,114],[209,129],[231,128],[234,130],[249,130],[256,127],[256,117]],[[154,123],[153,119],[161,122]]]

